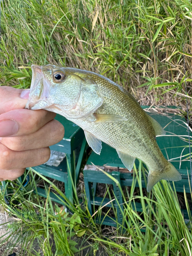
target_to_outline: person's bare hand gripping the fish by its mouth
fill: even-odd
[[[26,167],[43,164],[49,146],[64,136],[53,112],[24,109],[29,90],[0,87],[0,181],[15,180]]]

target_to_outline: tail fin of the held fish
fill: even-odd
[[[173,166],[173,164],[167,161],[165,168],[161,171],[151,171],[148,173],[147,181],[147,192],[152,190],[152,187],[160,180],[169,181],[179,181],[181,180],[181,175],[178,170]]]

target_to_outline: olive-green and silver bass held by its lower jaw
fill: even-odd
[[[95,153],[100,154],[102,141],[109,144],[130,171],[135,159],[140,159],[148,168],[148,192],[160,180],[181,180],[156,142],[156,136],[165,131],[124,88],[91,71],[55,65],[31,68],[26,109],[66,117],[83,129]]]

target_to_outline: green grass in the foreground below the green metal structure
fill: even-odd
[[[109,255],[190,255],[191,214],[186,193],[184,193],[185,204],[190,220],[184,220],[177,193],[166,181],[156,184],[152,193],[148,193],[147,197],[144,196],[141,186],[144,169],[141,162],[139,169],[135,167],[134,169],[135,178],[132,187],[123,190],[120,188],[124,199],[123,223],[119,223],[118,228],[105,227],[105,229],[94,222],[94,218],[99,218],[101,215],[101,207],[92,218],[86,198],[83,199],[83,203],[80,203],[76,197],[75,204],[71,204],[56,185],[29,170],[31,180],[27,187],[24,188],[17,182],[11,183],[10,205],[5,203],[4,194],[1,195],[4,209],[9,209],[10,215],[16,218],[16,222],[9,224],[14,231],[9,237],[11,247],[13,248],[16,243],[19,244],[22,250],[19,253],[20,256],[34,255],[34,244],[38,244],[37,255],[39,256],[41,252],[46,256],[81,255],[83,249],[90,249],[87,255],[91,256],[96,255],[94,253],[100,248],[104,248]],[[39,179],[46,182],[47,199],[42,199],[33,193]],[[137,190],[136,180],[139,183]],[[63,198],[63,203],[69,209],[68,211],[74,212],[73,215],[66,212],[65,208],[61,209],[51,202],[50,189],[52,191],[54,189],[55,193]],[[109,188],[106,189],[104,197],[110,196],[109,191]],[[141,212],[134,210],[136,202],[141,203]],[[55,215],[55,211],[59,214]],[[124,225],[126,229],[123,228]],[[7,248],[2,256],[11,252],[9,246]],[[100,255],[103,255],[102,253]]]

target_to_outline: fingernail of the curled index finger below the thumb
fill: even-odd
[[[18,123],[13,120],[5,120],[0,122],[0,137],[7,137],[16,134],[18,131]]]

